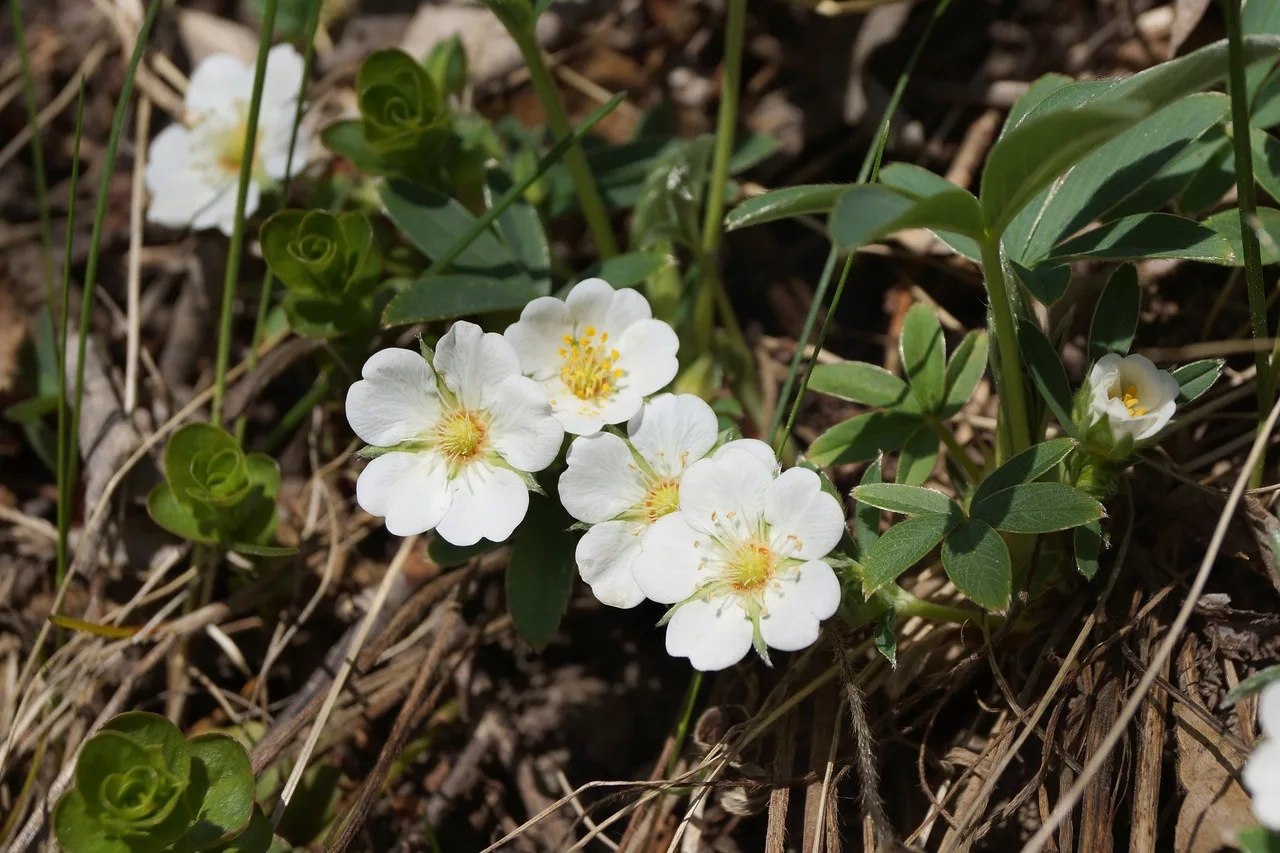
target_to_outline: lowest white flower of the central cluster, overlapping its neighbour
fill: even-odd
[[[824,557],[845,514],[813,471],[778,474],[768,446],[730,442],[694,462],[680,511],[658,519],[640,544],[635,580],[668,611],[667,651],[699,670],[721,670],[754,646],[796,651],[818,639],[840,605]]]

